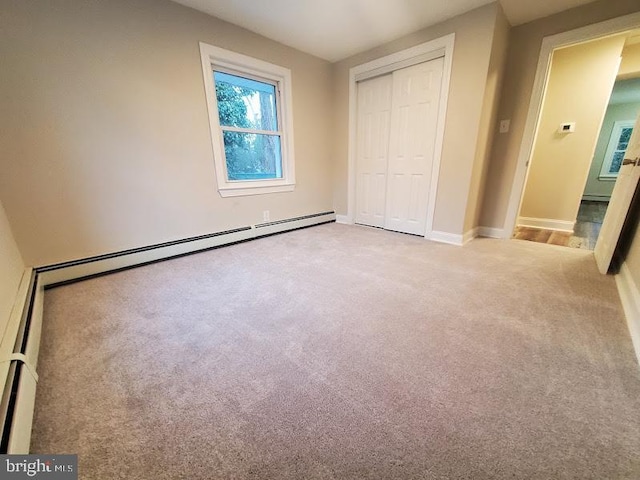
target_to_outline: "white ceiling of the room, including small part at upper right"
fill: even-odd
[[[331,62],[492,0],[174,0]],[[594,0],[500,0],[520,25]]]

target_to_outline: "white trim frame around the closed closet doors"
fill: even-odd
[[[449,82],[451,79],[451,65],[453,60],[453,45],[455,33],[436,38],[415,47],[377,58],[362,65],[349,69],[349,185],[347,200],[347,218],[345,223],[353,223],[356,207],[356,145],[357,145],[357,82],[373,78],[400,68],[410,67],[418,63],[427,62],[435,58],[444,57],[442,72],[442,89],[440,105],[438,106],[438,123],[436,127],[436,143],[433,154],[433,168],[431,170],[431,189],[429,191],[429,205],[427,207],[426,238],[430,238],[433,231],[433,216],[436,207],[438,190],[438,176],[440,174],[440,160],[442,157],[442,143],[444,140],[444,123],[447,114],[447,100],[449,97]]]

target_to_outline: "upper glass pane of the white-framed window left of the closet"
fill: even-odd
[[[278,130],[274,85],[222,72],[213,78],[221,126]]]

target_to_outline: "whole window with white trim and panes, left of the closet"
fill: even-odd
[[[220,195],[292,191],[291,72],[204,43],[200,53]]]

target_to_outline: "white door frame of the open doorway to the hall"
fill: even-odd
[[[509,207],[507,209],[503,230],[504,238],[511,238],[518,220],[518,212],[520,210],[520,203],[522,202],[522,195],[529,170],[528,164],[530,163],[533,146],[538,134],[538,124],[547,81],[551,71],[551,55],[553,51],[559,47],[566,47],[639,27],[640,12],[543,38],[540,57],[538,58],[538,68],[536,69],[536,77],[533,83],[533,91],[531,92],[531,100],[529,102],[529,112],[522,135],[522,143],[520,144],[516,173],[511,186],[511,195],[509,196]]]

